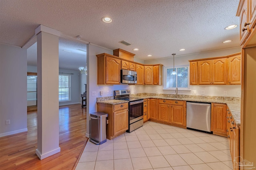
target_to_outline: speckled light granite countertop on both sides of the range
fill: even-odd
[[[241,102],[240,101],[232,101],[232,100],[214,100],[214,99],[200,99],[200,98],[168,98],[165,96],[133,96],[134,98],[143,98],[143,99],[165,99],[165,100],[181,100],[181,101],[187,101],[187,102],[204,102],[204,103],[219,103],[219,104],[227,104],[229,107],[234,120],[236,122],[236,125],[240,125],[240,106]],[[122,103],[128,103],[126,100],[101,100],[97,101],[97,103],[102,103],[102,104],[111,104],[111,105],[116,105],[116,104],[122,104]]]

